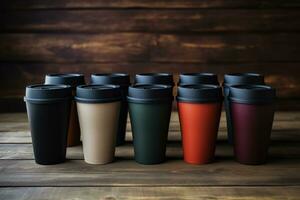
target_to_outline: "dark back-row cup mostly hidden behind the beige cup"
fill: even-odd
[[[130,76],[124,73],[92,74],[91,83],[92,84],[114,84],[114,85],[119,85],[121,87],[122,101],[121,101],[121,110],[120,110],[116,145],[124,144],[126,125],[127,125],[127,115],[128,115],[128,103],[126,98],[128,94],[128,87],[130,85]]]

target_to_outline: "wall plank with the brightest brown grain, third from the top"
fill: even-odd
[[[1,34],[0,44],[0,61],[182,64],[300,61],[297,33]]]

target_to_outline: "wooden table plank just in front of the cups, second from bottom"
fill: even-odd
[[[68,160],[41,166],[34,160],[0,160],[0,186],[297,186],[299,162],[299,159],[273,158],[265,165],[248,166],[230,157],[218,158],[208,165],[169,159],[153,166],[118,158],[107,165]]]

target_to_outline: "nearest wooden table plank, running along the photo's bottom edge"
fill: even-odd
[[[49,196],[51,194],[51,197]],[[207,199],[266,199],[298,200],[299,186],[256,186],[256,187],[18,187],[0,188],[2,200],[49,200],[49,199],[89,199],[89,200],[207,200]]]

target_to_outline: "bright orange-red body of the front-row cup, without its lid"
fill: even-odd
[[[184,161],[205,164],[215,157],[222,103],[178,103]]]

